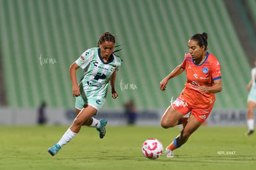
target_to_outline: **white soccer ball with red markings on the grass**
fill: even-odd
[[[163,145],[157,139],[147,139],[142,145],[142,153],[146,158],[155,160],[163,153]]]

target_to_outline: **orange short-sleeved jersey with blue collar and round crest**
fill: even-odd
[[[213,54],[207,52],[205,60],[196,64],[190,54],[185,56],[181,64],[186,69],[187,82],[181,94],[190,105],[197,108],[208,108],[215,102],[215,94],[198,90],[199,86],[213,86],[216,79],[221,79],[220,62]]]

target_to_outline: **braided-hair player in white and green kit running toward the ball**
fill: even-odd
[[[75,99],[76,118],[57,144],[48,149],[54,156],[70,142],[80,131],[82,125],[95,127],[102,139],[106,134],[106,119],[95,119],[92,116],[103,106],[107,87],[110,81],[113,99],[118,96],[114,84],[116,71],[121,65],[121,59],[114,54],[115,38],[112,34],[103,33],[98,41],[98,47],[88,49],[69,68],[72,81],[72,92]],[[83,76],[77,84],[76,70],[83,69]]]

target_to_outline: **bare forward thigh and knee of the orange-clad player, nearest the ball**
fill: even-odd
[[[177,111],[172,106],[169,106],[161,118],[161,125],[163,127],[174,126],[176,125],[175,123],[177,122],[177,120],[179,120],[183,116],[184,115],[181,112]]]

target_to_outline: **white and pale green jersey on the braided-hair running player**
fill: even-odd
[[[79,84],[82,97],[102,99],[106,97],[109,79],[120,67],[121,59],[112,54],[109,62],[104,62],[100,48],[95,47],[83,52],[75,63],[84,70]]]

